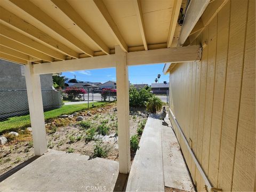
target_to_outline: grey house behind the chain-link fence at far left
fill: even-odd
[[[0,59],[0,118],[28,114],[23,66]],[[60,92],[53,89],[52,74],[40,75],[44,110],[62,105]],[[8,91],[6,91],[8,90]]]

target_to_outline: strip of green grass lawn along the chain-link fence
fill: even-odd
[[[100,106],[104,105],[106,102],[92,102],[89,103],[89,108],[94,105]],[[44,119],[51,119],[58,117],[60,115],[64,114],[73,114],[76,111],[81,111],[83,109],[87,109],[87,103],[83,104],[76,104],[76,105],[68,105],[68,106],[62,106],[59,109],[54,109],[51,111],[44,112]],[[20,128],[25,128],[30,126],[30,116],[24,115],[24,116],[18,116],[18,117],[10,117],[7,121],[0,122],[0,134],[6,131],[17,131]]]

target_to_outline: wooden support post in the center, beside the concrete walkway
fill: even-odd
[[[131,167],[128,67],[126,53],[120,46],[115,51],[119,172],[128,174]]]

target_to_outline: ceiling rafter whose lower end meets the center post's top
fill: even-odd
[[[116,26],[116,23],[114,20],[111,18],[111,15],[109,14],[107,7],[103,3],[102,0],[91,0],[94,5],[97,7],[98,11],[100,12],[101,16],[103,19],[106,21],[107,25],[109,26],[109,29],[113,36],[115,37],[116,41],[118,42],[118,45],[121,46],[121,48],[125,51],[128,52],[128,46],[124,41],[124,38],[122,37],[119,29]]]

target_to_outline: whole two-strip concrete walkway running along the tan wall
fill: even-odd
[[[195,190],[168,117],[148,117],[139,146],[126,191]]]

